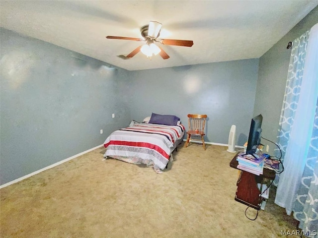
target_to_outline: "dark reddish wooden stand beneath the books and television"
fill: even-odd
[[[237,166],[239,165],[237,161],[238,154],[239,153],[237,153],[230,162],[230,166],[235,169],[238,169]],[[239,180],[237,182],[238,188],[235,200],[259,210],[262,198],[259,196],[261,191],[258,189],[257,183],[263,184],[265,183],[265,179],[273,180],[275,179],[275,175],[274,171],[266,168],[263,169],[263,175],[260,176],[241,170]]]

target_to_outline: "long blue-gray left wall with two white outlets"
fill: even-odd
[[[100,145],[129,123],[129,71],[3,28],[0,41],[1,184]]]

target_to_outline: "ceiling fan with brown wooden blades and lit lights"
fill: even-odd
[[[193,41],[186,40],[171,40],[171,39],[160,39],[157,38],[160,35],[160,29],[162,24],[157,21],[150,21],[149,25],[143,26],[140,31],[141,35],[144,39],[141,38],[133,38],[133,37],[123,37],[123,36],[106,36],[107,39],[119,39],[119,40],[130,40],[130,41],[144,41],[145,45],[137,47],[130,54],[126,56],[126,58],[132,58],[140,51],[146,55],[147,57],[152,57],[153,55],[160,55],[163,60],[169,59],[165,51],[157,46],[155,42],[158,42],[162,45],[170,45],[170,46],[193,46]]]

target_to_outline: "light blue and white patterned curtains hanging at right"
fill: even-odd
[[[275,179],[275,203],[317,238],[318,24],[293,42],[278,145],[285,171]]]

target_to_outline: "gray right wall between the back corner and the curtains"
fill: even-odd
[[[285,93],[291,49],[287,44],[318,23],[318,6],[259,59],[254,116],[262,113],[262,136],[276,142],[278,124]],[[266,140],[273,154],[275,145]]]

